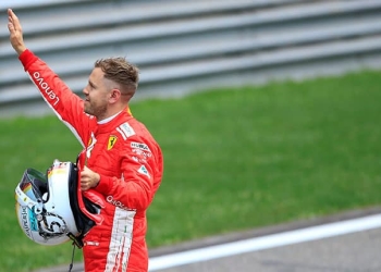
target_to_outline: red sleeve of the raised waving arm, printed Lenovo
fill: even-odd
[[[84,102],[61,78],[32,51],[25,50],[19,57],[24,70],[39,89],[45,101],[58,118],[73,132],[83,146],[87,144],[84,129],[90,118],[84,113]]]

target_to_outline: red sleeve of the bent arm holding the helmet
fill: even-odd
[[[134,137],[125,141],[125,153],[122,156],[121,168],[123,178],[100,175],[96,190],[119,199],[125,207],[145,210],[153,199],[162,176],[162,157],[159,146]],[[136,154],[132,143],[149,147],[149,151]]]

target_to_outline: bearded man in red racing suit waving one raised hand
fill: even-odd
[[[8,16],[10,41],[25,71],[84,147],[82,190],[106,200],[102,224],[84,238],[85,271],[147,271],[146,210],[161,183],[163,161],[159,145],[128,109],[137,67],[124,58],[96,61],[83,100],[26,48],[12,10]]]

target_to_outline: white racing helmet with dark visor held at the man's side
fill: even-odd
[[[78,197],[78,168],[72,162],[54,160],[47,174],[25,170],[15,188],[16,215],[25,235],[51,246],[72,239],[81,248],[82,238],[101,223],[102,203]]]

